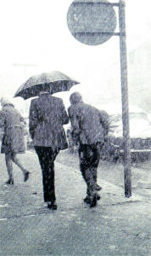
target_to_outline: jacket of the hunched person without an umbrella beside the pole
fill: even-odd
[[[109,131],[109,115],[84,102],[68,108],[73,136],[82,144],[103,142]]]

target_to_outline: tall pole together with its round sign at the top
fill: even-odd
[[[119,8],[120,32],[115,32],[114,7]],[[82,44],[103,44],[112,36],[120,37],[120,78],[124,146],[125,196],[131,196],[131,142],[129,136],[129,110],[126,61],[125,0],[109,3],[108,0],[75,0],[70,4],[67,23],[71,34]]]

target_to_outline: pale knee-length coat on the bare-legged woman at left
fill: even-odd
[[[0,111],[0,128],[3,128],[2,153],[24,153],[25,140],[22,122],[25,119],[13,104],[5,104]]]

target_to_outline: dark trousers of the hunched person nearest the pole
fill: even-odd
[[[100,160],[101,143],[80,144],[79,160],[82,177],[87,183],[87,195],[91,196],[97,183],[97,168]]]

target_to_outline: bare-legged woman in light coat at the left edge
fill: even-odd
[[[24,175],[24,181],[29,178],[28,172],[17,158],[17,154],[25,153],[25,141],[23,125],[25,119],[20,112],[14,108],[8,97],[1,98],[2,110],[0,111],[0,128],[3,129],[2,153],[5,154],[8,170],[7,184],[14,184],[12,161],[20,167]]]

